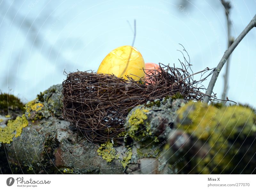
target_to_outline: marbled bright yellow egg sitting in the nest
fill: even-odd
[[[131,50],[132,54],[128,63]],[[127,77],[125,77],[126,75],[134,80],[140,80],[140,78],[143,78],[145,75],[142,68],[145,68],[145,63],[140,52],[132,46],[121,46],[112,50],[103,59],[97,73],[114,74],[117,77],[127,79]]]

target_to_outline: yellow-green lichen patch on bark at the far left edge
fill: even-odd
[[[28,120],[25,114],[18,116],[14,121],[9,120],[6,127],[0,127],[0,142],[11,143],[13,137],[20,136],[22,129],[26,126],[28,126]]]

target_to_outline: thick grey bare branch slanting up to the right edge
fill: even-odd
[[[227,61],[228,57],[230,56],[230,54],[234,51],[236,46],[239,44],[239,42],[241,42],[241,40],[244,38],[244,36],[253,27],[256,27],[256,15],[252,18],[251,22],[247,25],[247,27],[245,27],[243,32],[236,38],[236,40],[232,43],[232,45],[228,48],[228,50],[225,51],[223,57],[220,60],[220,63],[215,68],[215,70],[214,70],[214,72],[212,74],[212,78],[211,78],[210,83],[209,83],[209,85],[207,87],[207,90],[206,90],[203,102],[205,102],[205,103],[209,102],[210,95],[212,94],[212,90],[213,90],[215,82],[216,82],[216,80],[217,80],[217,78],[219,76],[220,70],[222,69],[223,65],[226,63],[226,61]]]

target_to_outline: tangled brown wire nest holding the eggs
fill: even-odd
[[[148,79],[134,81],[92,71],[67,74],[63,81],[63,118],[76,126],[88,141],[105,142],[124,131],[128,112],[139,104],[180,94],[186,100],[200,101],[204,93],[198,87],[209,68],[193,73],[190,65],[182,68],[159,64],[160,68],[145,72]],[[145,71],[145,70],[144,70]],[[196,81],[194,75],[201,74]],[[120,137],[119,137],[120,138]]]

